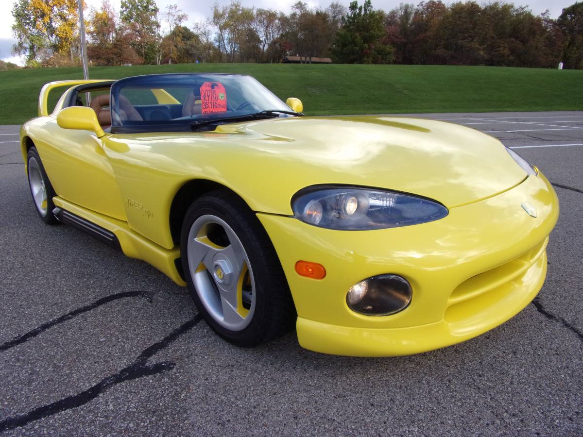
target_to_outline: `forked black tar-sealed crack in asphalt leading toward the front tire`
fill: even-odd
[[[182,325],[178,326],[162,340],[143,350],[132,364],[125,366],[113,375],[106,376],[106,378],[101,379],[100,382],[89,387],[89,389],[83,390],[83,392],[72,396],[64,397],[63,399],[42,407],[34,408],[34,410],[31,410],[28,413],[16,415],[0,421],[0,432],[22,427],[30,422],[61,413],[62,411],[83,406],[95,399],[101,393],[106,392],[106,390],[122,382],[143,378],[144,376],[157,375],[174,369],[176,363],[173,361],[161,361],[154,364],[146,364],[146,362],[149,358],[152,358],[153,355],[174,343],[174,341],[182,336],[182,334],[187,333],[195,327],[201,320],[201,316],[197,314],[194,318],[188,320],[188,322],[182,323]]]

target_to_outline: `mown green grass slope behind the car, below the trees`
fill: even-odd
[[[255,76],[280,98],[298,97],[307,115],[583,109],[583,71],[441,65],[178,64],[96,67],[92,79],[170,72]],[[79,79],[80,68],[0,72],[0,124],[37,113],[46,82]]]

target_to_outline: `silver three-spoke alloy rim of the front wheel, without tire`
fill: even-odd
[[[187,255],[196,294],[206,311],[224,329],[245,329],[255,312],[255,281],[233,229],[219,217],[198,217],[188,232]]]

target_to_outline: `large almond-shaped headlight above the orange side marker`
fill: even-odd
[[[434,200],[378,189],[314,186],[292,200],[294,217],[314,226],[360,231],[426,223],[447,216]]]

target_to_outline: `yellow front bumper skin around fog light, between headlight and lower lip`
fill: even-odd
[[[538,217],[522,209],[526,200]],[[541,175],[501,195],[453,208],[441,220],[413,226],[335,231],[291,217],[257,216],[278,253],[300,318],[339,326],[403,328],[444,319],[459,284],[543,244],[558,214],[556,194]],[[320,263],[326,277],[298,275],[298,260]],[[408,308],[382,317],[351,311],[346,304],[349,288],[385,273],[398,274],[411,284]]]

